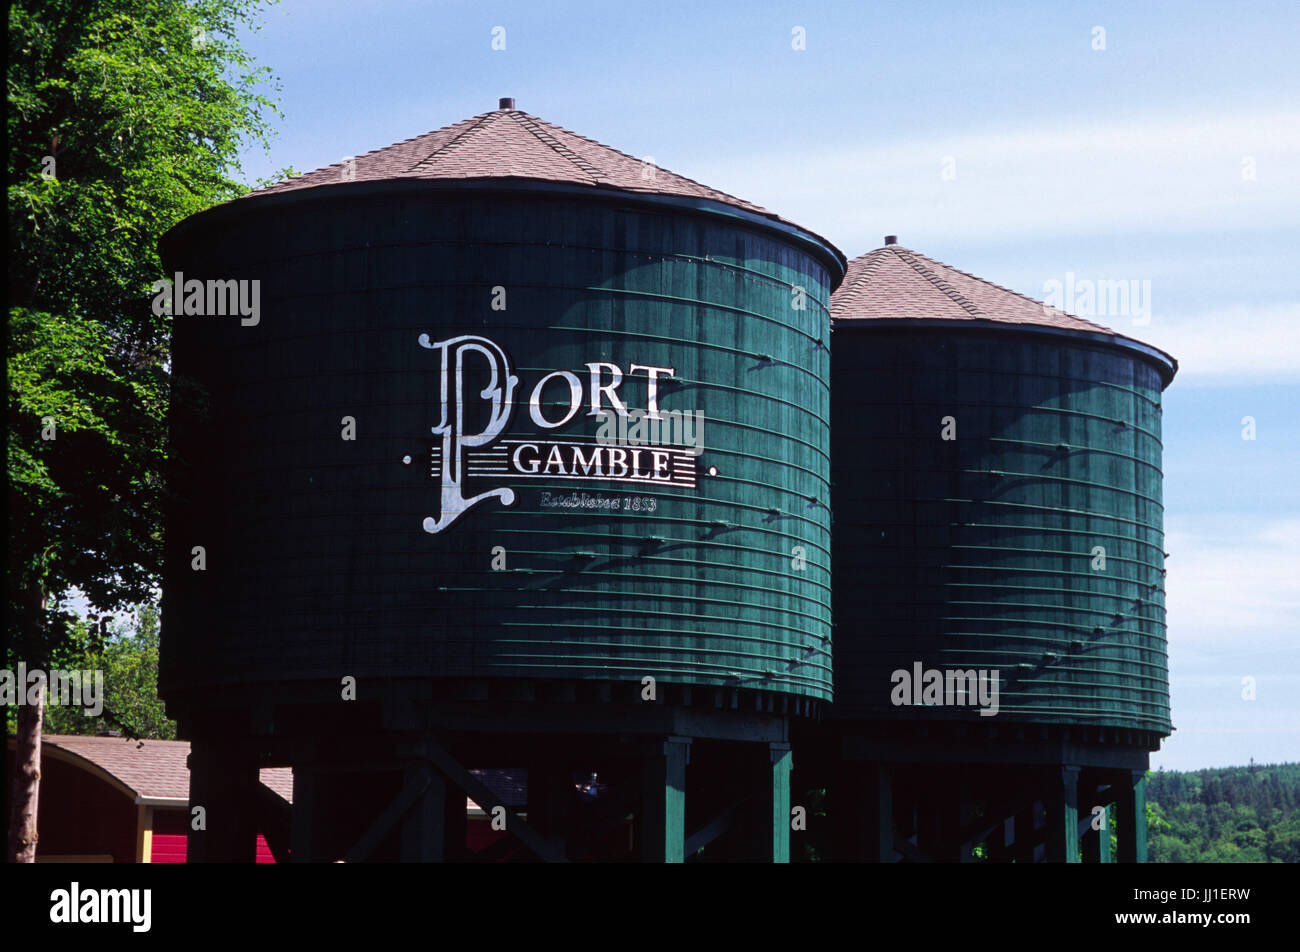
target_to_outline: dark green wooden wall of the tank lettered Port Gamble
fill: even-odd
[[[829,252],[716,209],[454,189],[251,200],[164,251],[169,273],[263,282],[256,326],[176,319],[176,369],[211,416],[174,414],[166,696],[352,675],[829,697]],[[586,407],[563,429],[532,423],[547,373],[578,375],[586,399],[588,362],[672,367],[660,407],[705,415],[697,488],[473,479],[467,494],[511,486],[514,505],[425,532],[441,403],[421,334],[506,350],[523,404],[506,438],[594,442]],[[646,375],[620,394],[645,408]],[[545,412],[566,406],[552,381]],[[655,510],[540,505],[575,490]]]

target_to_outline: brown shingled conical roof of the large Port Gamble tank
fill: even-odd
[[[781,221],[764,208],[710,189],[517,109],[497,109],[394,143],[346,164],[289,178],[242,199],[346,182],[394,179],[529,178],[646,195],[699,198]],[[653,177],[651,177],[653,176]]]

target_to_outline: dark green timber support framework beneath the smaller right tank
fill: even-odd
[[[823,724],[801,788],[829,791],[841,862],[1145,862],[1158,737],[1049,724]],[[1112,857],[1112,832],[1115,857]]]

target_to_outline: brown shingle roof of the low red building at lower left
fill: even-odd
[[[53,747],[90,761],[121,780],[140,797],[186,800],[190,796],[187,740],[129,740],[72,734],[47,734],[42,748]],[[261,782],[285,800],[294,799],[294,771],[264,767]]]

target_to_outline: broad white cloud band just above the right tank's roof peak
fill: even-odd
[[[1295,113],[1065,120],[901,144],[797,146],[705,157],[692,177],[779,209],[850,254],[876,247],[885,231],[991,241],[1292,228],[1300,207]],[[952,181],[941,178],[948,156]],[[1243,179],[1247,159],[1254,181]]]

